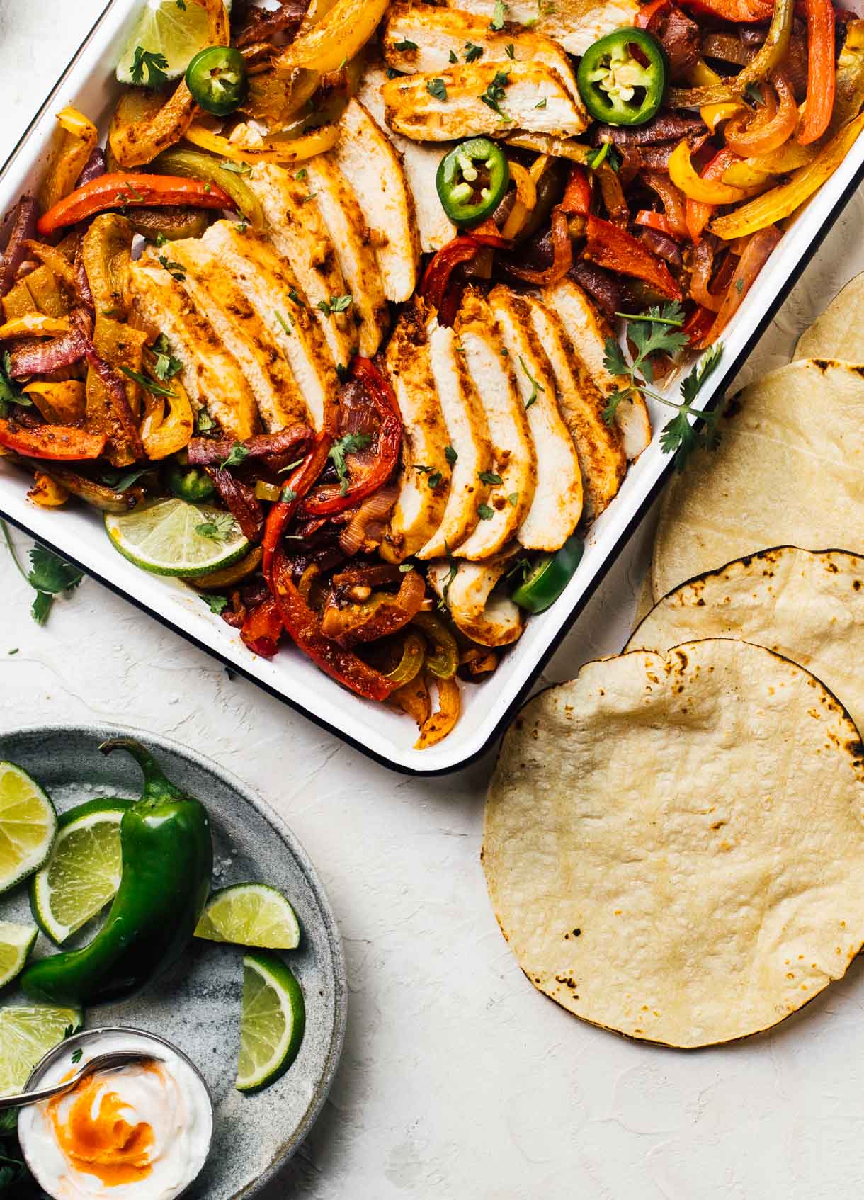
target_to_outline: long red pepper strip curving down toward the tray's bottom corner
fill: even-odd
[[[324,636],[318,614],[310,608],[294,583],[292,565],[282,546],[274,558],[271,588],[282,623],[294,644],[331,679],[364,700],[386,700],[398,686],[380,671],[367,666],[352,650],[343,649],[338,642]]]

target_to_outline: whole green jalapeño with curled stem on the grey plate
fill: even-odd
[[[206,904],[212,836],[200,800],[166,779],[131,738],[100,750],[128,750],[144,772],[144,791],[120,822],[120,887],[94,940],[79,950],[28,967],[22,988],[48,1004],[95,1004],[137,991],[184,953]]]

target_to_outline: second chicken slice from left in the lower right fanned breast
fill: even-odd
[[[490,494],[490,485],[481,475],[492,470],[492,445],[480,397],[464,356],[456,349],[452,329],[432,319],[427,331],[432,376],[444,413],[448,444],[456,451],[456,458],[442,523],[416,557],[440,558],[464,541],[480,522],[479,509]]]

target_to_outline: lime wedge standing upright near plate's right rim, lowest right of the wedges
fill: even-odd
[[[296,1058],[306,1006],[300,984],[277,954],[244,954],[240,1062],[235,1087],[253,1092],[284,1075]]]

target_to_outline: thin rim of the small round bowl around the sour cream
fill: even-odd
[[[104,1044],[106,1042],[110,1044]],[[194,1079],[193,1086],[199,1086],[200,1098],[206,1102],[205,1110],[208,1114],[209,1128],[206,1130],[206,1144],[204,1151],[199,1156],[200,1162],[194,1162],[192,1164],[193,1172],[190,1178],[184,1183],[180,1192],[175,1192],[170,1196],[170,1200],[178,1200],[179,1196],[188,1192],[190,1187],[200,1175],[208,1154],[210,1153],[210,1145],[212,1142],[214,1103],[210,1088],[208,1087],[202,1073],[198,1070],[188,1055],[184,1054],[184,1051],[179,1046],[175,1046],[172,1042],[168,1042],[167,1038],[161,1038],[156,1033],[148,1033],[145,1030],[137,1030],[131,1026],[110,1025],[102,1026],[97,1030],[82,1030],[79,1033],[74,1033],[72,1037],[68,1037],[64,1042],[55,1045],[53,1050],[49,1050],[48,1054],[40,1062],[37,1062],[30,1072],[30,1078],[24,1085],[24,1091],[31,1092],[38,1086],[48,1086],[52,1082],[59,1082],[62,1078],[62,1073],[58,1075],[58,1073],[53,1072],[52,1068],[56,1066],[60,1058],[65,1060],[71,1066],[72,1055],[77,1050],[83,1051],[79,1064],[88,1061],[84,1057],[88,1051],[91,1051],[95,1056],[96,1054],[102,1054],[106,1050],[152,1050],[154,1058],[164,1058],[166,1051],[170,1051],[170,1054],[176,1055],[184,1066],[188,1067]],[[54,1075],[54,1078],[48,1078],[50,1075]],[[42,1164],[40,1164],[35,1154],[29,1153],[28,1140],[34,1135],[34,1122],[37,1118],[35,1110],[37,1108],[38,1105],[31,1105],[30,1108],[20,1110],[18,1115],[18,1141],[20,1144],[24,1162],[30,1169],[30,1172],[36,1182],[48,1195],[56,1195],[56,1193],[52,1190],[52,1181],[46,1180],[41,1172]],[[30,1151],[32,1151],[32,1146],[30,1147]],[[142,1195],[143,1194],[144,1189],[142,1189]]]

